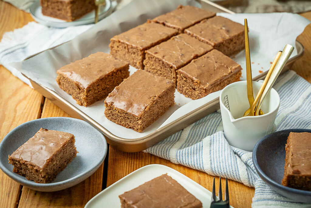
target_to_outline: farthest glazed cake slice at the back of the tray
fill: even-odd
[[[192,6],[179,5],[176,10],[154,18],[152,21],[177,29],[180,33],[203,19],[214,17],[215,12]]]

